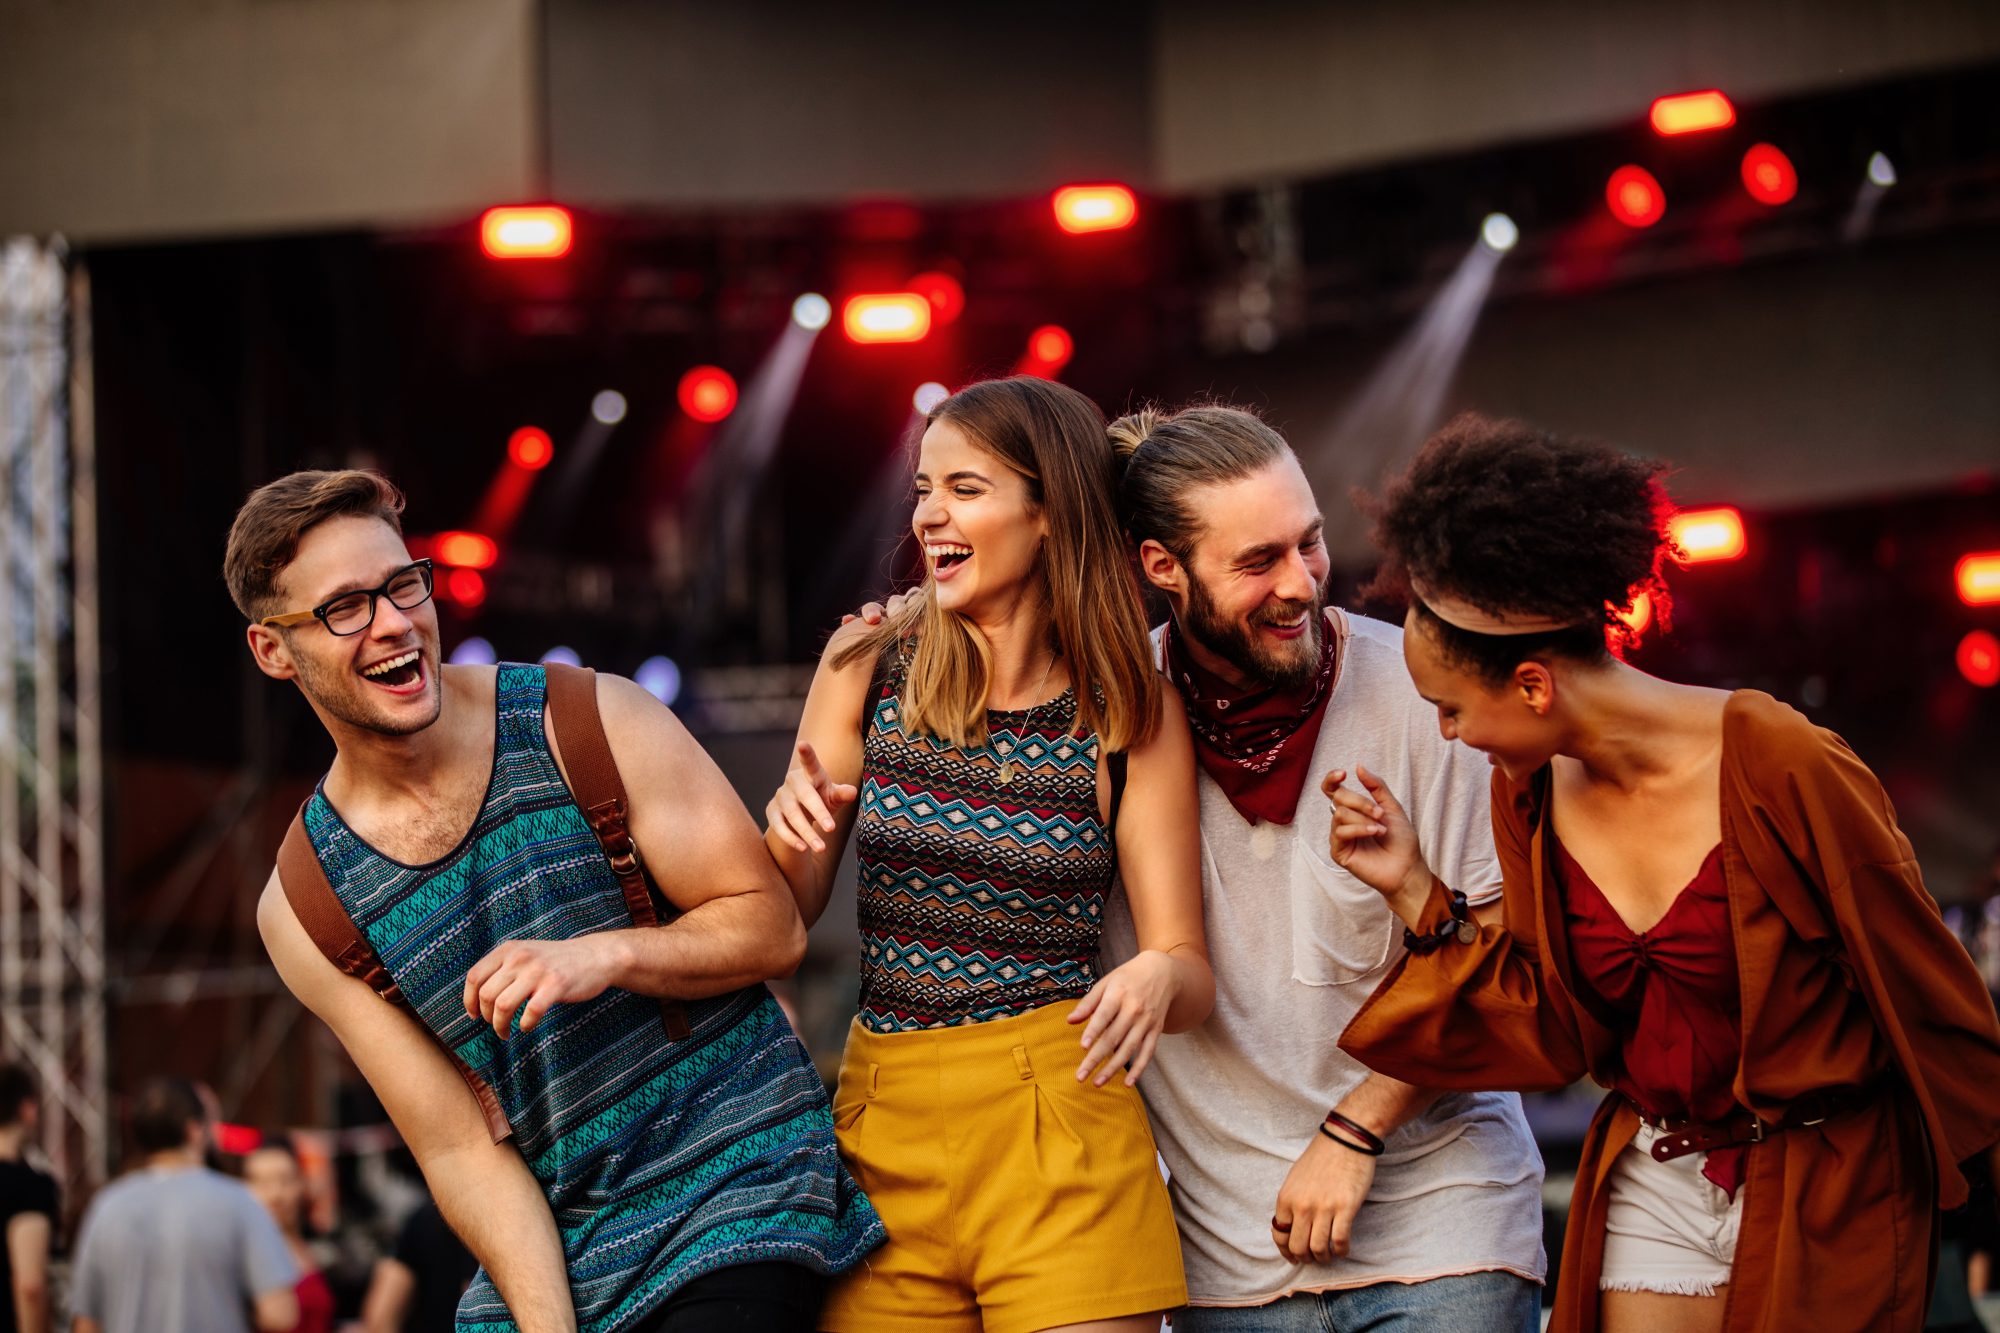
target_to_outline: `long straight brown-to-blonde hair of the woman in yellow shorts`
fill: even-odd
[[[1012,376],[960,388],[930,410],[926,426],[940,420],[1018,472],[1048,518],[1032,576],[1042,580],[1048,646],[1070,664],[1078,725],[1112,753],[1142,745],[1158,725],[1160,677],[1114,508],[1118,460],[1104,414],[1074,388]],[[872,662],[910,638],[904,727],[964,749],[986,745],[992,648],[970,620],[938,606],[928,572],[920,594],[848,642],[834,666]]]

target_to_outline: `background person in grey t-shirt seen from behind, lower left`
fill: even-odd
[[[84,1213],[70,1273],[72,1333],[286,1333],[298,1265],[270,1213],[204,1165],[210,1113],[186,1079],[132,1103],[140,1165]]]

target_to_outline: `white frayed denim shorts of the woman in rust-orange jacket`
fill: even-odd
[[[1658,1161],[1652,1143],[1662,1133],[1642,1123],[1612,1163],[1598,1289],[1714,1295],[1736,1261],[1744,1191],[1730,1199],[1704,1177],[1706,1153]]]

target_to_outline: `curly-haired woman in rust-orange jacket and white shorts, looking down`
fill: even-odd
[[[1394,793],[1328,775],[1334,859],[1410,927],[1340,1045],[1426,1085],[1612,1089],[1558,1331],[1914,1331],[1956,1163],[2000,1139],[2000,1029],[1836,735],[1608,650],[1638,592],[1666,610],[1660,470],[1468,414],[1376,504],[1410,677],[1496,767],[1506,889],[1468,917]]]

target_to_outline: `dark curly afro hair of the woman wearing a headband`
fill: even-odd
[[[1664,462],[1606,444],[1462,412],[1380,498],[1360,498],[1384,554],[1368,594],[1406,596],[1446,656],[1488,681],[1536,654],[1596,662],[1624,652],[1638,632],[1620,612],[1640,594],[1662,628],[1672,616],[1660,568],[1678,548],[1664,472]],[[1488,614],[1572,624],[1542,634],[1462,630],[1424,606],[1412,582]]]

